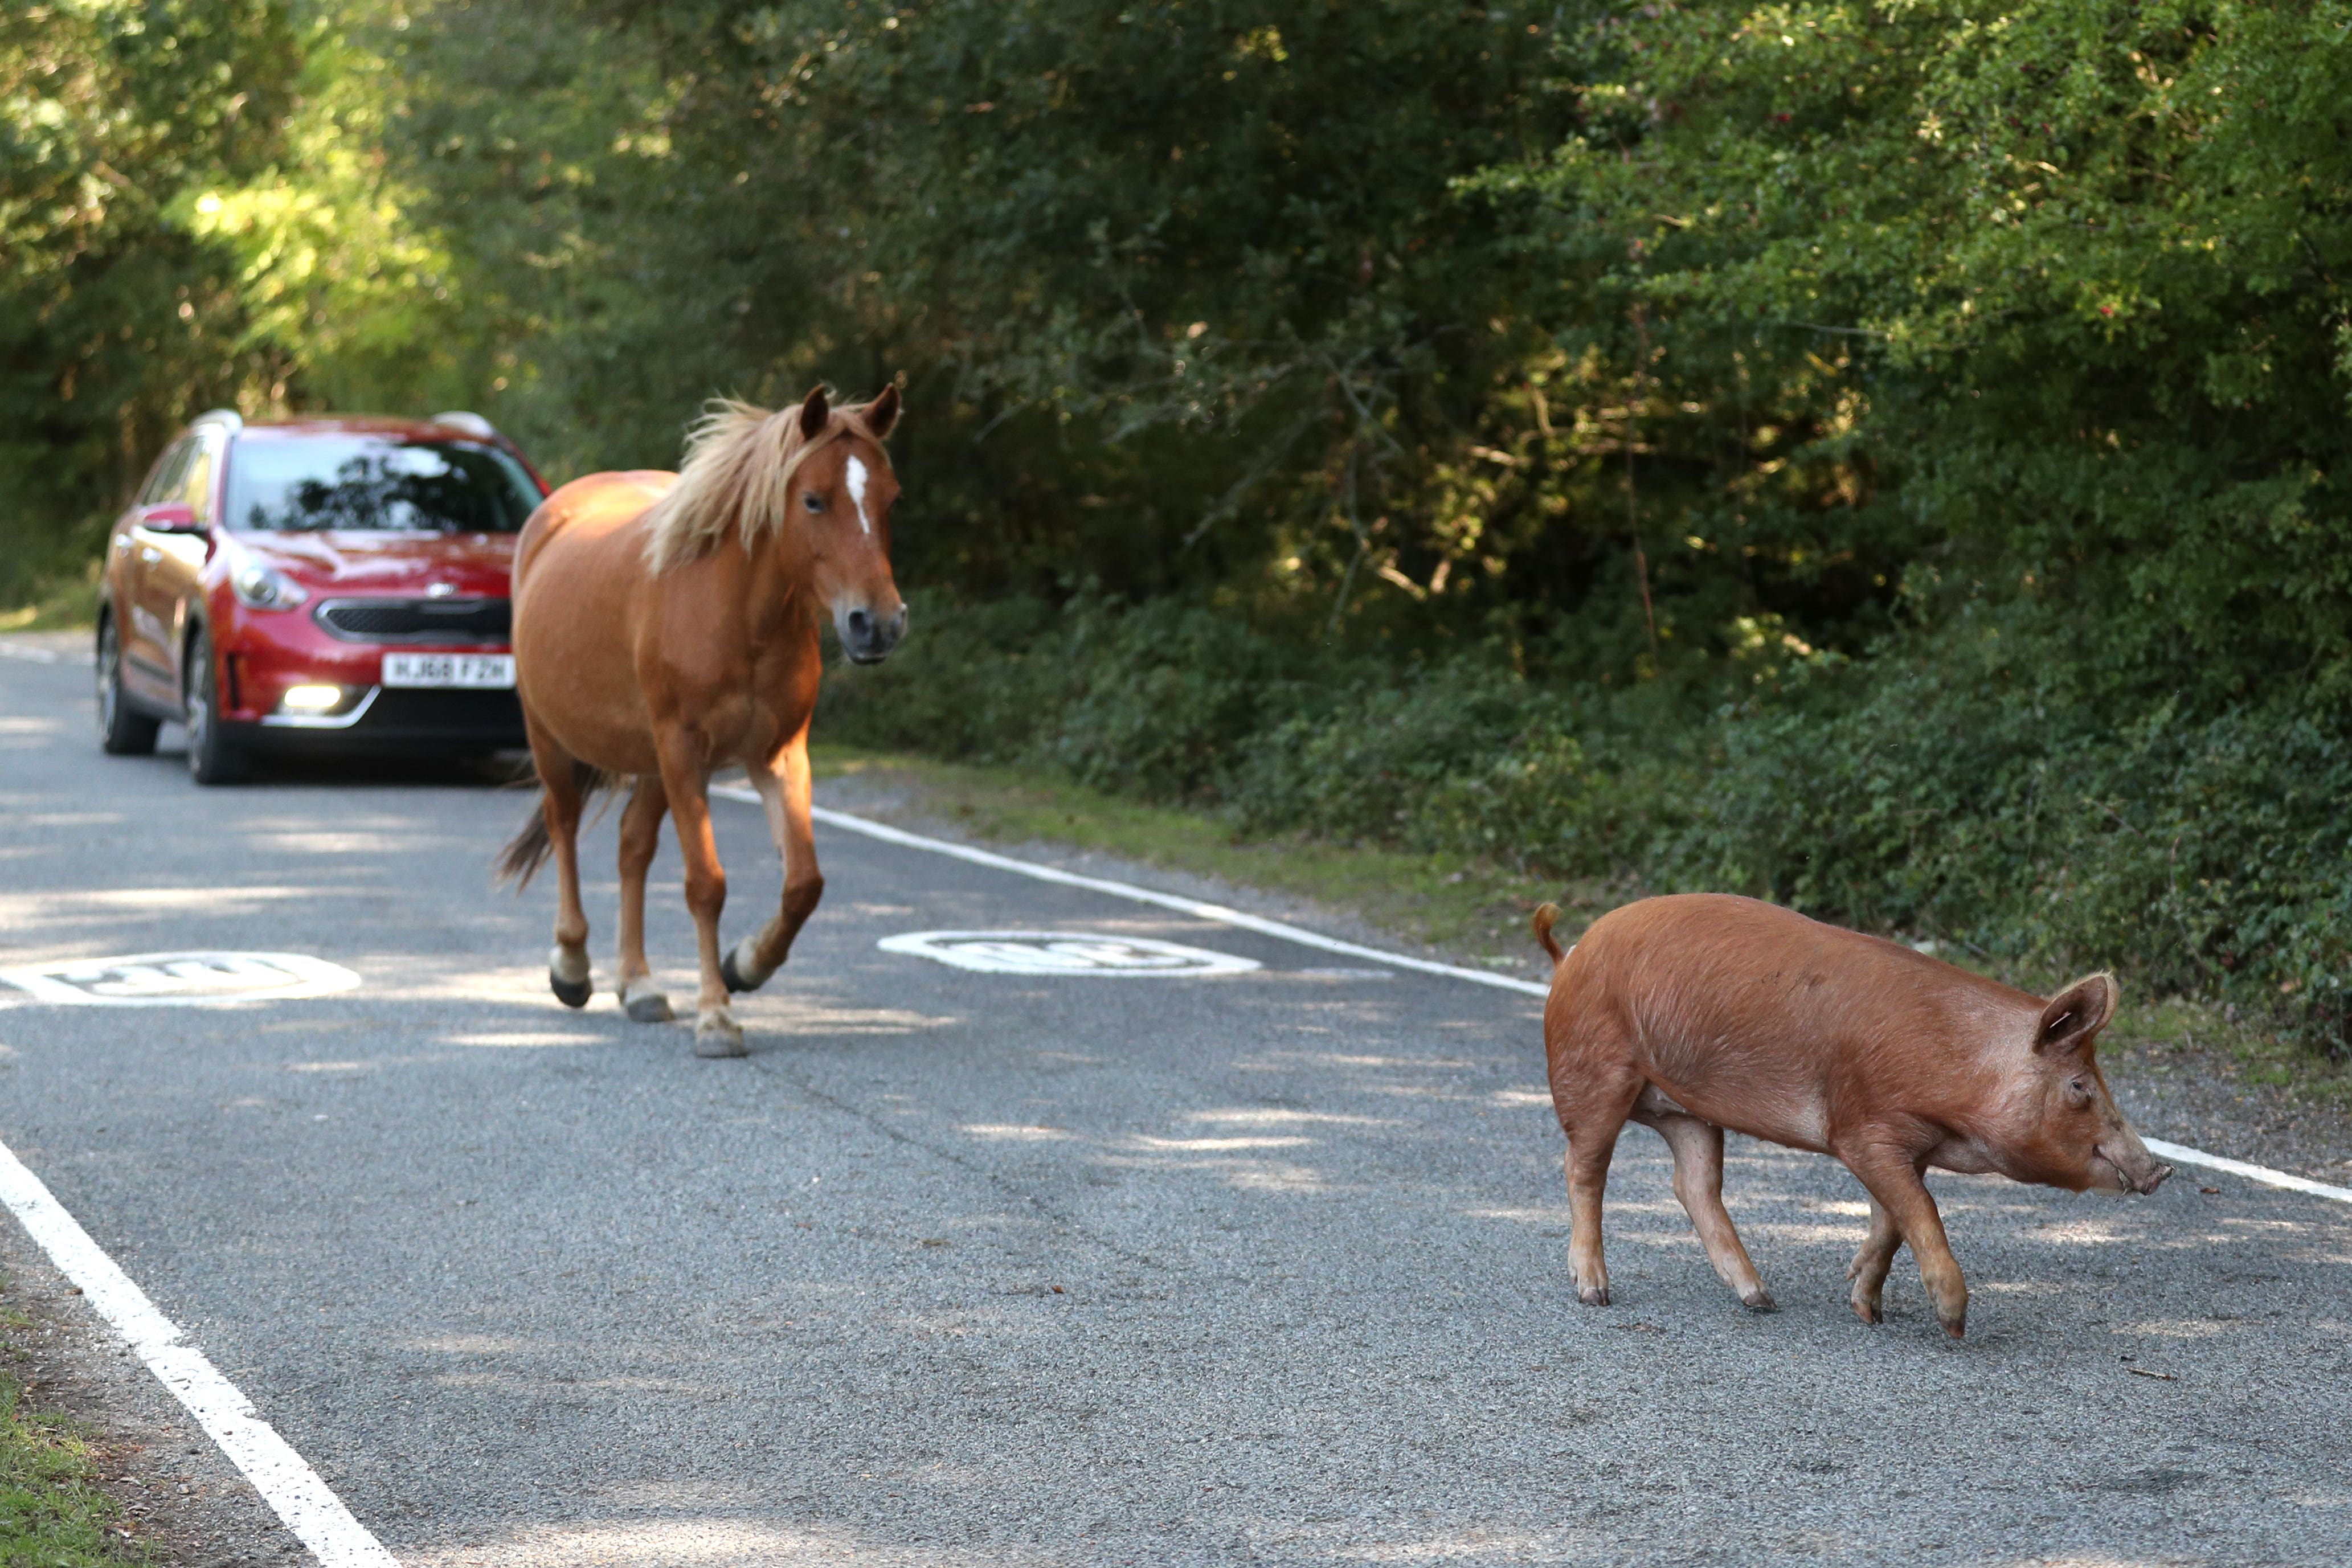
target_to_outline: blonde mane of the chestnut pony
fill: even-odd
[[[797,404],[779,411],[736,397],[706,402],[687,428],[677,484],[647,510],[644,562],[654,576],[701,557],[729,534],[750,550],[781,529],[802,463],[844,435],[873,440],[863,421],[868,407],[835,407],[826,428],[804,437]]]

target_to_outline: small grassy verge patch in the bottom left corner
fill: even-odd
[[[0,1307],[9,1361],[33,1328]],[[122,1507],[99,1490],[96,1453],[73,1420],[26,1408],[24,1382],[0,1371],[0,1568],[122,1568],[151,1556],[120,1533]]]

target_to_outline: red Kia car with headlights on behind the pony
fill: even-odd
[[[176,719],[209,785],[273,750],[524,745],[508,569],[546,494],[477,414],[200,416],[106,548],[103,748]]]

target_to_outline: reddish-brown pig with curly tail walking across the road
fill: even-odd
[[[1922,1175],[1999,1171],[2082,1192],[2154,1192],[2171,1175],[2124,1121],[2093,1044],[2114,976],[2051,999],[1900,943],[1724,893],[1644,898],[1552,938],[1543,1044],[1569,1135],[1569,1267],[1576,1298],[1609,1305],[1602,1187],[1628,1119],[1675,1152],[1675,1197],[1717,1276],[1755,1312],[1773,1298],[1724,1213],[1724,1128],[1835,1154],[1870,1194],[1853,1255],[1853,1312],[1879,1324],[1896,1251],[1919,1260],[1936,1319],[1969,1326],[1969,1286]]]

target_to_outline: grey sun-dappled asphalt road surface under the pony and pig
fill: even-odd
[[[299,952],[228,1009],[0,987],[0,1140],[402,1563],[2343,1563],[2352,1211],[1938,1178],[1945,1342],[1832,1161],[1736,1140],[1750,1316],[1628,1128],[1566,1279],[1538,1001],[818,827],[750,1058],[546,990],[527,797],[198,790],[0,661],[0,966]],[[172,745],[176,731],[167,731]],[[729,936],[774,907],[720,804]],[[583,846],[609,964],[612,823]],[[675,851],[652,945],[691,999]],[[1009,929],[1256,959],[971,973]],[[2161,1133],[2164,1128],[2147,1128]],[[2199,1192],[2218,1187],[2218,1192]]]

